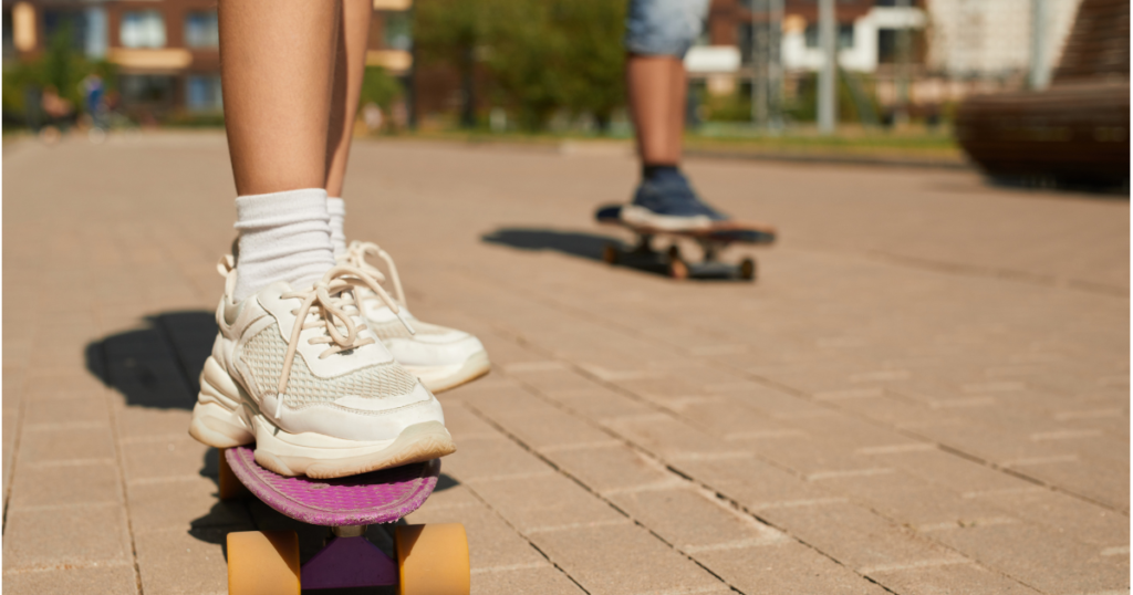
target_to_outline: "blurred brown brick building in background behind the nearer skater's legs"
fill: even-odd
[[[412,67],[411,0],[374,0],[366,61],[402,76]],[[3,0],[3,59],[41,56],[69,31],[73,48],[118,66],[122,109],[221,111],[215,0]]]

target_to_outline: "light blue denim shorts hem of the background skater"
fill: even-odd
[[[684,58],[708,16],[710,0],[630,0],[625,50]]]

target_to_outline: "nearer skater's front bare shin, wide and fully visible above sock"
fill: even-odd
[[[322,188],[339,0],[221,0],[219,11],[237,194]]]

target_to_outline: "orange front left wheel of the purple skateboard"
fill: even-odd
[[[228,534],[229,595],[299,595],[300,589],[293,530]]]

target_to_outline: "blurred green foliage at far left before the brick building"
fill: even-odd
[[[3,71],[3,111],[6,114],[24,113],[28,88],[54,87],[59,96],[83,110],[80,84],[87,75],[102,77],[103,87],[112,91],[118,80],[118,68],[105,60],[91,61],[76,51],[70,25],[65,25],[48,41],[43,56],[27,62],[16,62]]]

